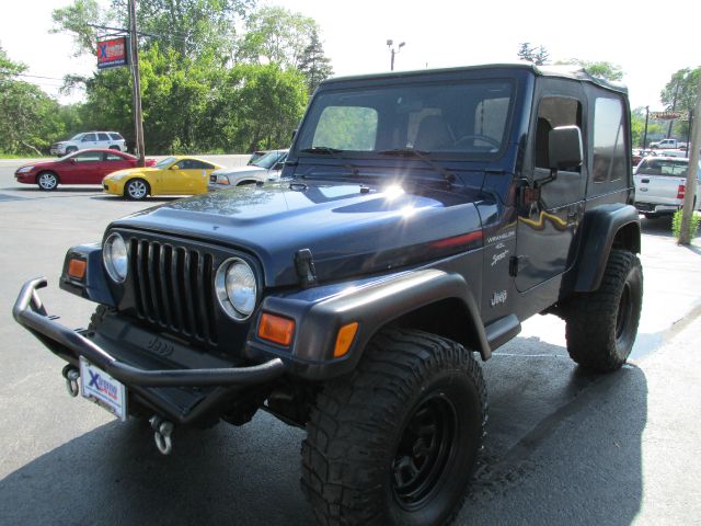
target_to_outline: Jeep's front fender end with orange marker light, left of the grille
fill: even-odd
[[[87,263],[85,277],[83,279],[76,279],[68,275],[68,265],[70,260],[74,259],[83,260]],[[64,260],[64,271],[61,272],[59,287],[97,304],[110,307],[116,306],[102,266],[102,245],[100,243],[79,244],[68,249]]]

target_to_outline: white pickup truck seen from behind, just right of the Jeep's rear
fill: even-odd
[[[633,176],[635,208],[645,217],[673,215],[683,204],[689,159],[677,157],[646,157]],[[701,167],[698,174],[701,174]],[[699,182],[701,183],[701,181]],[[699,205],[699,184],[694,209]]]

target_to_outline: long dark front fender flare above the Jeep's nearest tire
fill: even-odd
[[[323,288],[323,287],[322,287]],[[263,354],[290,358],[288,371],[308,379],[325,379],[355,368],[368,341],[378,330],[411,311],[444,299],[457,299],[471,318],[480,354],[491,354],[478,304],[464,278],[436,268],[405,272],[378,278],[364,286],[349,286],[336,295],[319,301],[306,301],[292,296],[265,298],[261,312],[291,318],[296,323],[291,348],[269,344],[251,332],[249,348]],[[254,328],[257,327],[257,321]],[[334,358],[338,330],[358,322],[358,329],[348,352]],[[470,320],[464,320],[469,323]]]

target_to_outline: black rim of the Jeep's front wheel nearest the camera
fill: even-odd
[[[456,410],[441,393],[414,411],[392,461],[392,491],[405,510],[421,508],[434,496],[457,447],[457,427]]]

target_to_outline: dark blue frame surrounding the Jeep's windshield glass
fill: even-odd
[[[343,156],[345,159],[367,159],[367,160],[378,160],[383,159],[387,160],[388,156],[386,155],[388,148],[381,147],[376,139],[375,146],[372,150],[350,150],[350,149],[338,149],[333,148],[331,145],[317,145],[314,142],[314,135],[317,133],[319,123],[321,121],[321,115],[323,113],[323,108],[333,107],[333,104],[325,103],[324,98],[327,95],[342,95],[347,93],[348,95],[353,94],[363,94],[368,91],[381,91],[381,90],[395,90],[395,89],[411,89],[411,88],[430,88],[430,87],[459,87],[459,85],[471,85],[471,84],[501,84],[501,87],[508,88],[508,107],[506,108],[506,116],[504,119],[503,128],[502,128],[502,137],[499,138],[499,148],[494,151],[467,151],[467,150],[421,150],[421,153],[427,155],[434,160],[445,160],[445,161],[489,161],[493,162],[501,159],[506,152],[510,136],[514,133],[515,125],[515,112],[517,111],[517,106],[519,104],[519,79],[516,77],[510,77],[508,75],[497,75],[497,76],[489,76],[489,77],[461,77],[461,78],[452,78],[446,80],[436,80],[434,78],[416,78],[416,79],[395,79],[392,82],[378,81],[371,82],[367,84],[340,84],[333,85],[317,92],[314,98],[312,99],[304,118],[300,124],[299,130],[296,134],[295,145],[290,150],[290,155],[294,155],[296,158],[319,158],[319,157],[329,157],[327,152],[313,152],[315,148],[331,148],[338,152],[338,155]],[[498,98],[494,98],[498,99]],[[489,100],[489,99],[482,99]],[[321,101],[321,102],[320,102]],[[320,106],[321,104],[321,106]],[[480,102],[475,99],[475,106],[479,106]],[[350,105],[349,105],[350,106]],[[338,106],[342,107],[342,106]],[[350,107],[367,107],[367,106],[350,106]],[[427,106],[430,107],[430,106]],[[446,114],[447,116],[447,114]],[[310,136],[311,134],[311,136]],[[466,134],[468,136],[470,134]],[[407,137],[409,138],[409,137]],[[390,148],[391,149],[391,148]],[[415,147],[399,147],[399,150],[402,149],[418,149]],[[384,155],[383,155],[384,152]]]

